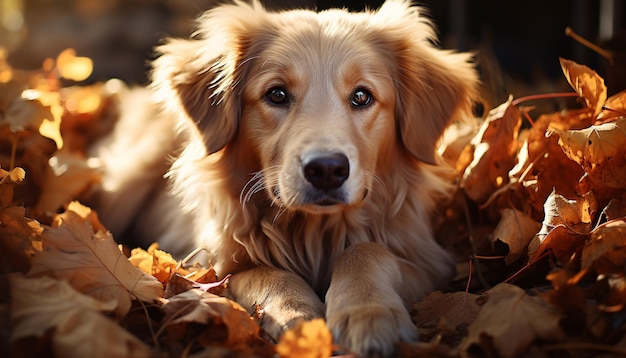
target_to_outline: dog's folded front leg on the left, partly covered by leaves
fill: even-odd
[[[233,275],[228,290],[242,306],[261,307],[261,327],[275,338],[299,320],[324,316],[322,301],[300,276],[292,272],[256,267]]]

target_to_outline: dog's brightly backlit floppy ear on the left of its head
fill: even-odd
[[[237,134],[251,42],[247,26],[265,14],[256,1],[221,5],[198,19],[191,39],[169,39],[157,47],[152,70],[157,99],[195,124],[208,153]]]

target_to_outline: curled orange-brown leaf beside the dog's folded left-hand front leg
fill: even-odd
[[[173,296],[161,309],[170,330],[184,329],[185,324],[191,322],[214,327],[212,332],[205,330],[203,333],[214,333],[214,337],[205,337],[209,342],[220,338],[227,346],[235,347],[250,342],[259,334],[259,326],[238,303],[202,290],[191,289]]]

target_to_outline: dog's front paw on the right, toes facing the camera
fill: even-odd
[[[361,357],[390,356],[400,341],[417,338],[403,305],[364,304],[327,313],[335,342]]]

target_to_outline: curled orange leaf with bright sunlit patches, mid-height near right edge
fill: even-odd
[[[541,230],[528,246],[530,262],[547,250],[551,250],[559,261],[568,262],[585,242],[596,211],[597,203],[591,192],[576,200],[568,200],[553,191],[544,204]]]

